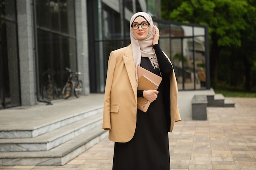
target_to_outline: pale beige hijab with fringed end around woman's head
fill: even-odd
[[[153,28],[153,20],[148,13],[138,12],[132,15],[130,25],[138,16],[144,17],[149,22],[149,32],[148,36],[144,40],[137,40],[132,31],[132,27],[130,26],[130,40],[132,44],[132,55],[135,64],[136,79],[138,79],[137,66],[140,66],[141,57],[148,57],[152,66],[154,68],[159,68],[157,56],[152,45],[155,34],[155,29]]]

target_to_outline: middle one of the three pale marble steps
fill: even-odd
[[[0,152],[46,151],[102,124],[102,113],[35,138],[0,139]]]

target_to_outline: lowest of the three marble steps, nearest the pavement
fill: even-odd
[[[48,151],[0,152],[0,166],[62,166],[108,136],[101,125]]]

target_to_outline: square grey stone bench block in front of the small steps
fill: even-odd
[[[191,101],[193,120],[207,120],[207,103],[206,95],[193,96]]]

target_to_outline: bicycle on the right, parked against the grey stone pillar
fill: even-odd
[[[83,83],[81,80],[79,80],[78,76],[81,75],[81,72],[73,72],[70,68],[67,67],[65,70],[69,71],[69,75],[67,77],[67,82],[62,89],[62,98],[69,98],[73,90],[76,98],[80,97],[83,90]]]

